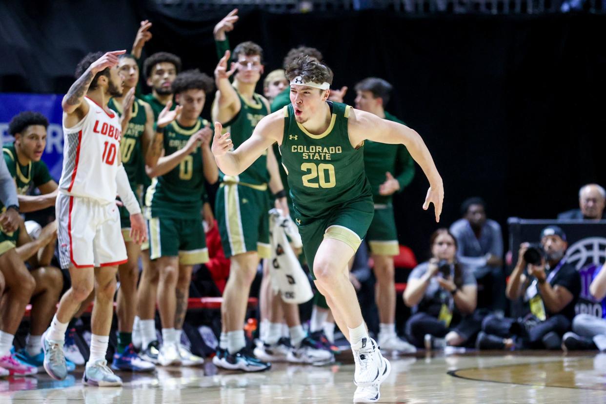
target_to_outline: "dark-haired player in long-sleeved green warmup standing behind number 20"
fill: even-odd
[[[391,84],[383,79],[371,77],[362,80],[356,84],[356,108],[404,125],[404,122],[385,111],[391,88]],[[399,254],[399,242],[391,196],[410,184],[415,176],[415,162],[404,145],[367,141],[364,145],[364,168],[375,201],[375,217],[366,239],[375,262],[373,270],[377,279],[378,343],[384,351],[414,353],[416,348],[399,339],[396,334],[393,257]]]

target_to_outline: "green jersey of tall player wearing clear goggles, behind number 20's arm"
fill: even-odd
[[[240,147],[250,136],[253,134],[253,130],[256,125],[264,118],[264,116],[270,113],[265,102],[259,94],[253,94],[255,104],[250,104],[238,93],[240,98],[241,108],[238,114],[231,121],[223,125],[224,131],[229,132],[233,147],[236,149]],[[225,180],[225,174],[219,170],[219,177],[221,181]],[[233,177],[228,177],[233,178]],[[237,182],[244,182],[245,184],[262,185],[267,184],[269,181],[269,171],[267,171],[267,152],[250,165],[243,173],[235,179]]]

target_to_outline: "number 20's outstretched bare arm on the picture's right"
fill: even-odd
[[[427,210],[430,204],[435,207],[436,222],[440,221],[442,213],[442,202],[444,200],[444,184],[442,177],[438,173],[431,153],[427,149],[425,142],[421,139],[415,130],[398,122],[381,119],[375,114],[367,113],[361,110],[352,111],[348,120],[348,130],[352,144],[361,144],[364,139],[387,144],[403,144],[408,149],[410,156],[415,159],[417,164],[425,173],[429,180],[430,188],[425,197],[423,209]]]

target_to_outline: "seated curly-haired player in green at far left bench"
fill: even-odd
[[[4,161],[12,176],[19,200],[19,210],[22,213],[42,210],[55,205],[57,183],[48,172],[48,167],[42,161],[42,153],[46,147],[48,121],[44,115],[33,111],[23,111],[11,119],[8,133],[15,137],[15,142],[2,148]],[[39,195],[28,195],[33,188],[38,188]],[[2,205],[0,204],[0,207]],[[2,207],[2,210],[5,210]],[[55,229],[54,231],[52,229]],[[35,288],[32,294],[32,316],[30,333],[27,336],[27,346],[16,354],[16,358],[33,368],[41,368],[44,361],[41,336],[53,319],[54,307],[59,301],[63,287],[63,276],[59,268],[50,266],[50,258],[55,251],[56,225],[49,224],[38,243],[28,243],[30,240],[21,223],[20,228],[13,233],[0,233],[3,240],[0,251],[16,246],[16,252],[25,261],[27,272],[15,271],[7,277],[9,282],[27,289],[30,276],[33,277]],[[50,237],[50,238],[49,238]],[[43,240],[46,238],[47,240]],[[8,241],[10,240],[10,242]],[[52,244],[52,245],[48,245]],[[30,247],[30,248],[28,248]],[[30,257],[38,254],[44,248],[44,258]],[[50,256],[48,255],[50,253]],[[4,302],[5,306],[12,303]],[[22,313],[21,313],[22,314]],[[1,364],[0,364],[1,366]],[[68,368],[74,369],[73,363]],[[16,371],[15,374],[22,374]]]

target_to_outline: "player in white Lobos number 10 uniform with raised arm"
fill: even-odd
[[[59,302],[50,328],[42,336],[44,369],[65,379],[62,346],[68,322],[95,290],[92,337],[82,383],[119,386],[105,355],[112,326],[118,265],[127,262],[116,206],[116,194],[130,213],[130,237],[147,239],[141,208],[130,188],[120,156],[121,122],[107,107],[110,96],[122,94],[118,56],[125,51],[89,53],[76,67],[76,82],[65,94],[64,159],[56,201],[59,260],[69,268],[72,287]]]

